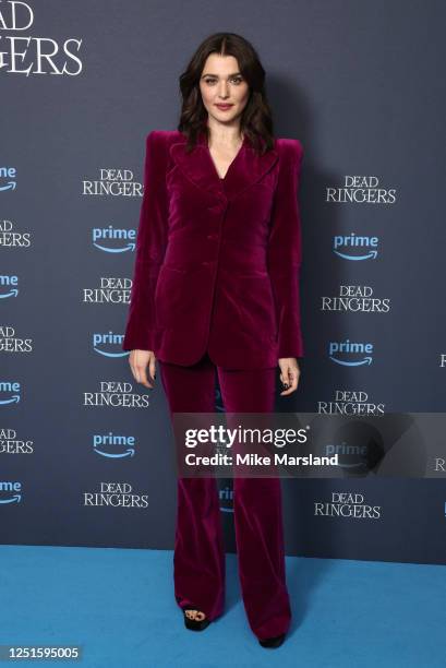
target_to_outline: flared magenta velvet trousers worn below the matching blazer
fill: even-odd
[[[193,366],[158,360],[170,413],[214,413],[215,373],[227,413],[274,410],[277,368],[225,370],[207,353]],[[225,604],[225,548],[217,479],[178,478],[174,596],[213,620]],[[233,477],[239,577],[248,621],[260,639],[285,633],[291,620],[286,584],[279,478]]]

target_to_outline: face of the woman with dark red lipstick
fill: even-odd
[[[203,104],[219,123],[231,123],[241,115],[250,97],[250,87],[233,56],[210,53],[200,80]],[[226,105],[219,107],[219,105]]]

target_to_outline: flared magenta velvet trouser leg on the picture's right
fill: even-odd
[[[225,410],[273,413],[276,368],[218,368]],[[233,427],[237,416],[233,416]],[[260,639],[286,633],[291,607],[286,583],[280,479],[233,478],[239,578],[248,621]]]

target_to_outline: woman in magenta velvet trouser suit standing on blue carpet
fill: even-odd
[[[153,387],[156,360],[172,414],[274,410],[277,366],[297,390],[302,146],[276,140],[253,47],[208,37],[180,77],[178,130],[146,140],[144,198],[122,348]],[[147,380],[146,370],[150,379]],[[291,609],[278,478],[234,478],[243,603],[264,647],[278,647]],[[178,478],[174,594],[188,629],[221,615],[225,551],[215,478]]]

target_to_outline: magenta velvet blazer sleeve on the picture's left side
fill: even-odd
[[[155,287],[167,246],[166,168],[166,141],[154,130],[146,138],[144,193],[123,350],[154,349]]]

